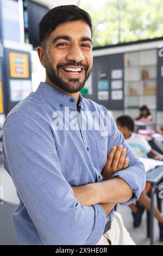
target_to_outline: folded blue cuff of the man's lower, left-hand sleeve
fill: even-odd
[[[104,208],[99,204],[95,204],[92,206],[95,209],[95,225],[93,227],[91,235],[86,240],[85,245],[96,245],[98,243],[104,233],[105,224],[107,221]]]

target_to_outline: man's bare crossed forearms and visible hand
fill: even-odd
[[[116,172],[127,168],[128,163],[123,145],[112,147],[102,170],[104,181],[72,187],[74,197],[84,205],[100,204],[108,216],[117,203],[127,202],[133,196],[133,191],[124,180],[111,179]]]

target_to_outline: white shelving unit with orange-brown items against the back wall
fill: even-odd
[[[147,105],[156,121],[157,51],[124,53],[124,114],[135,118]]]

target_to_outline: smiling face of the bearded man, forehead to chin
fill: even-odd
[[[46,74],[49,80],[68,93],[83,87],[92,69],[90,27],[84,21],[59,25],[46,42]]]

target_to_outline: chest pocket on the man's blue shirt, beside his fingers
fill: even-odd
[[[108,138],[102,137],[102,138],[96,139],[96,146],[97,146],[97,169],[98,169],[98,172],[101,173],[107,160]]]

